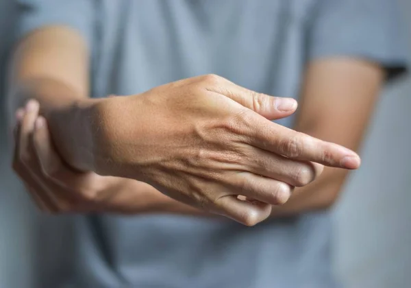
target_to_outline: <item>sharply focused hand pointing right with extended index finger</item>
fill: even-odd
[[[349,149],[270,121],[296,108],[295,100],[216,75],[104,99],[95,121],[95,171],[147,182],[175,200],[254,225],[323,165],[360,165]]]

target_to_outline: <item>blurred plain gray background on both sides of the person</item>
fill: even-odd
[[[411,1],[398,1],[411,38]],[[12,0],[0,0],[0,75],[14,20]],[[0,101],[2,108],[2,94]],[[345,287],[411,287],[410,110],[408,76],[384,91],[362,147],[362,167],[334,209],[335,271]],[[10,169],[0,111],[0,288],[32,288],[38,276],[71,260],[59,256],[71,249],[70,219],[40,215],[29,201]]]

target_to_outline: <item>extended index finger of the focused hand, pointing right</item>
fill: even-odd
[[[247,142],[251,145],[290,159],[312,161],[329,167],[360,167],[360,157],[350,149],[291,130],[259,115],[250,113],[247,117],[243,123],[247,127]]]

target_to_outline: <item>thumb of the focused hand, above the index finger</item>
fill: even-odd
[[[267,119],[275,120],[288,117],[297,110],[297,101],[295,99],[273,97],[238,86],[223,77],[212,77],[216,77],[216,82],[221,82],[221,84],[210,85],[210,91],[225,95]]]

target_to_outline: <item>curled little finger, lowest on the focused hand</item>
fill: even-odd
[[[264,221],[271,214],[271,205],[240,200],[236,195],[225,195],[216,201],[221,214],[247,226]]]

